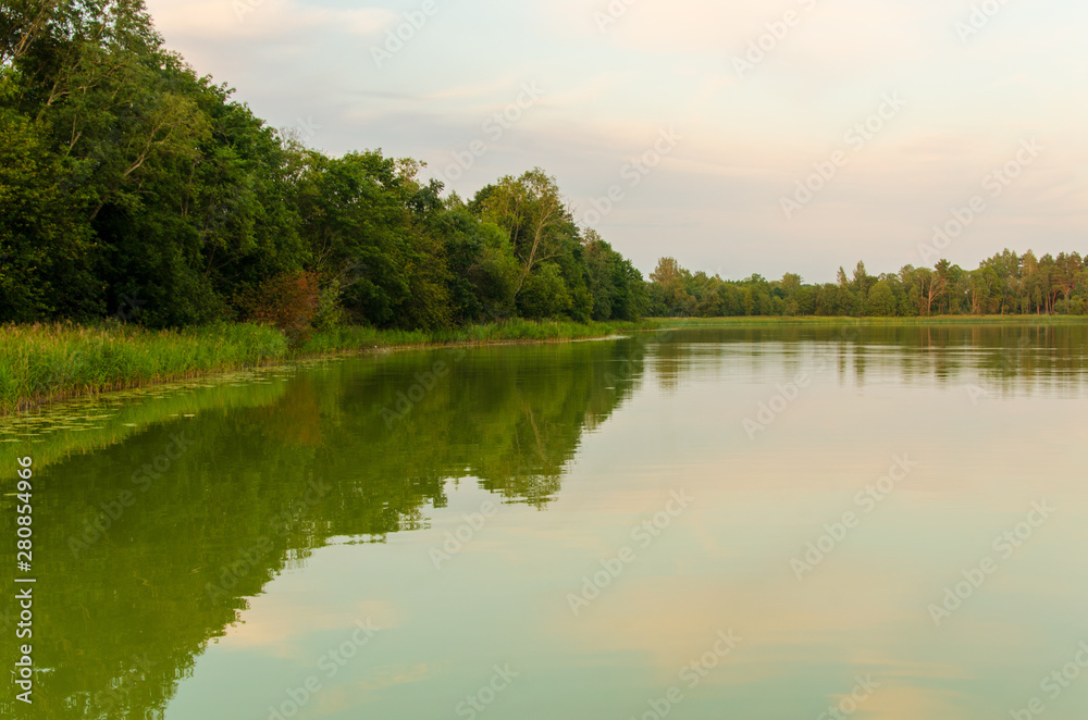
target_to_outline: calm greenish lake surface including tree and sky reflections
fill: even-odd
[[[17,717],[1084,720],[1086,375],[1085,326],[718,328],[62,409],[0,436]]]

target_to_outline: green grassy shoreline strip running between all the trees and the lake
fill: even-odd
[[[7,325],[0,326],[0,418],[20,415],[81,397],[153,387],[215,373],[374,352],[606,340],[622,337],[620,333],[656,330],[1085,324],[1088,324],[1088,318],[1080,315],[648,318],[638,322],[588,324],[515,320],[436,332],[339,327],[316,333],[301,347],[294,349],[287,346],[277,331],[246,324],[223,324],[182,332],[73,324]],[[141,356],[150,356],[150,360]],[[140,360],[146,362],[140,363]]]

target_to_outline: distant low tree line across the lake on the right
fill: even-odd
[[[837,282],[818,285],[793,273],[724,281],[662,258],[650,277],[655,316],[1088,314],[1088,262],[1077,252],[1038,258],[1006,249],[976,270],[941,260],[880,275],[858,262],[851,275],[840,268]]]

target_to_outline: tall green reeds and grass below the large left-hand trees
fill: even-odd
[[[548,342],[607,336],[651,324],[530,322],[436,332],[343,327],[288,347],[276,330],[223,324],[181,332],[72,324],[0,326],[0,414],[69,397],[296,358],[454,343]]]

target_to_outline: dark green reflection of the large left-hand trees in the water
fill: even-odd
[[[387,423],[383,409],[440,360],[448,374]],[[208,641],[273,576],[330,538],[425,525],[450,479],[545,507],[583,429],[641,372],[633,340],[392,353],[170,396],[161,417],[151,400],[120,418],[138,418],[141,432],[116,423],[116,440],[96,451],[64,452],[66,438],[21,446],[39,472],[35,657],[48,671],[36,717],[161,713]],[[14,548],[3,554],[13,567]]]

